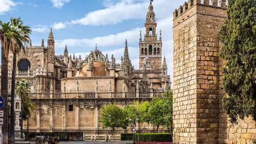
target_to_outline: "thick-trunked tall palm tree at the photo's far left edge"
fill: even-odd
[[[13,38],[18,43],[22,41],[20,35],[15,32],[12,26],[17,21],[3,23],[0,21],[0,40],[1,40],[1,96],[4,101],[7,102],[8,94],[8,53],[11,49],[12,43],[11,39]],[[3,107],[4,113],[4,123],[8,122],[8,106]],[[3,144],[8,143],[8,125],[2,126],[3,131]]]

